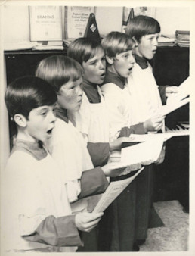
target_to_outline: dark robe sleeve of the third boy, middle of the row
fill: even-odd
[[[109,143],[88,142],[88,152],[94,167],[104,166],[109,158]]]

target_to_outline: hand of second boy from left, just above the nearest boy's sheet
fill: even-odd
[[[106,176],[116,177],[119,176],[127,166],[127,164],[122,164],[122,162],[113,162],[104,165],[101,169]]]

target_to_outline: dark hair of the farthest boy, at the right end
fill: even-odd
[[[153,17],[138,15],[128,23],[125,33],[140,42],[142,36],[160,33],[159,22]]]

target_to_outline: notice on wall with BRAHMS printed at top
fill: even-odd
[[[30,6],[30,41],[61,41],[60,6]]]

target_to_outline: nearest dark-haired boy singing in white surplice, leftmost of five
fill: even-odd
[[[58,166],[42,145],[52,136],[56,101],[54,89],[37,77],[15,80],[6,90],[17,136],[2,175],[5,251],[75,251],[82,245],[79,230],[89,232],[102,215],[71,215]]]

